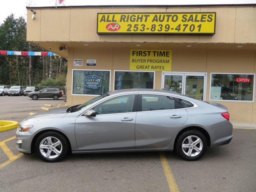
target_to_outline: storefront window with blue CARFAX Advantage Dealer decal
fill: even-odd
[[[73,70],[72,94],[102,95],[110,91],[110,70]]]

